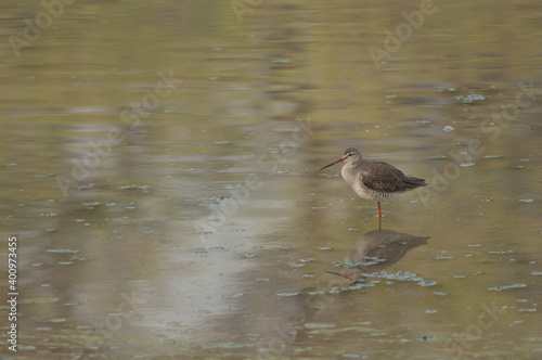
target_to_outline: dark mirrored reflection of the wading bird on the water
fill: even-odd
[[[382,271],[399,261],[414,247],[427,244],[430,236],[417,236],[390,229],[364,233],[348,253],[344,270],[330,273],[348,279],[351,284],[363,283],[365,274]]]

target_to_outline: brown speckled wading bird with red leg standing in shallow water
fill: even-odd
[[[341,158],[320,170],[343,162],[345,162],[340,171],[343,179],[352,187],[360,197],[378,203],[378,218],[380,219],[380,202],[400,195],[408,190],[428,185],[424,179],[404,175],[387,163],[365,160],[356,147],[348,147]]]

